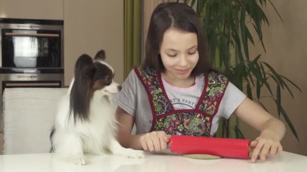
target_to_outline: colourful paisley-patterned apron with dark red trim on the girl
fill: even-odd
[[[195,109],[174,110],[164,89],[161,73],[143,67],[134,68],[147,92],[153,116],[151,131],[170,135],[210,136],[212,119],[219,109],[228,79],[219,73],[205,76],[202,94]]]

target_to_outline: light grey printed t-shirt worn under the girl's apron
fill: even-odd
[[[189,88],[174,87],[164,79],[162,82],[175,110],[195,109],[204,87],[203,74],[196,76],[195,84]],[[220,118],[228,119],[245,97],[245,94],[231,82],[228,83],[218,112],[212,120],[211,136],[216,133]],[[136,134],[150,132],[152,125],[150,103],[146,90],[134,70],[122,84],[122,90],[114,97],[114,103],[135,118]]]

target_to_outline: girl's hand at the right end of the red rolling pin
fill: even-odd
[[[276,153],[281,153],[282,146],[279,140],[276,134],[264,130],[257,139],[250,142],[250,147],[253,149],[251,161],[255,162],[258,156],[264,161],[268,154],[274,155]]]

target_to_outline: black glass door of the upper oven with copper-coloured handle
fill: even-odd
[[[2,29],[2,67],[61,67],[61,31]]]

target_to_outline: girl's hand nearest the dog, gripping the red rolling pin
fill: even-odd
[[[140,143],[143,150],[161,151],[167,148],[171,135],[167,135],[164,131],[152,131],[140,137]]]

